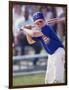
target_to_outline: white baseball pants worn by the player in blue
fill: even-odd
[[[45,84],[65,82],[65,51],[58,48],[54,54],[48,55]]]

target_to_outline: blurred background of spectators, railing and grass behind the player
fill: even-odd
[[[44,84],[47,67],[47,53],[40,42],[29,45],[21,27],[34,25],[33,13],[41,11],[46,23],[53,18],[66,18],[65,7],[49,5],[20,5],[12,8],[13,15],[13,85]],[[48,23],[47,23],[48,24]],[[65,46],[65,21],[50,25]]]

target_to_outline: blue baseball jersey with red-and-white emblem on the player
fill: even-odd
[[[41,41],[43,47],[49,54],[53,54],[59,47],[63,48],[63,45],[57,35],[55,34],[54,30],[45,25],[41,32],[43,33],[40,37],[33,37],[35,41]]]

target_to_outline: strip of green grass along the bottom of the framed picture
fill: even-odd
[[[44,84],[45,73],[13,77],[13,86]]]

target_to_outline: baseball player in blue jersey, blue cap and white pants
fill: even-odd
[[[64,46],[55,34],[54,30],[45,23],[41,12],[33,15],[35,32],[24,29],[29,44],[40,41],[48,53],[48,64],[45,75],[45,84],[64,83]]]

